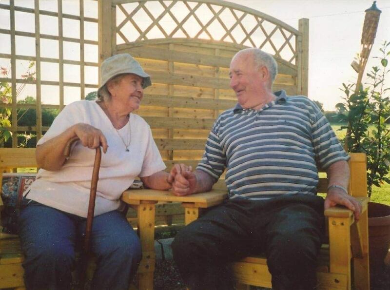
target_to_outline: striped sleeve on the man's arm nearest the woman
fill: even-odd
[[[215,133],[214,126],[207,138],[205,151],[196,169],[202,170],[215,179],[218,179],[224,172],[225,167],[226,155],[222,150],[220,138]]]

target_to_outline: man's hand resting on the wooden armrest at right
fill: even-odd
[[[346,194],[342,189],[332,188],[325,198],[325,210],[336,205],[343,205],[353,211],[355,219],[359,220],[362,212],[362,205],[353,196]]]

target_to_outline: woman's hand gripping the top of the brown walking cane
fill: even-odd
[[[83,146],[95,149],[101,145],[103,152],[107,152],[107,139],[99,129],[85,123],[78,123],[73,125],[73,130]]]

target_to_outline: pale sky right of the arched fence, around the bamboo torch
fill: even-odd
[[[309,92],[327,111],[343,101],[342,83],[355,82],[351,62],[360,52],[365,10],[370,0],[229,0],[273,16],[298,29],[298,19],[309,19]],[[380,56],[380,44],[390,41],[390,0],[378,0],[382,10],[370,60],[369,72]],[[363,79],[365,81],[365,79]],[[387,81],[390,85],[390,79]]]

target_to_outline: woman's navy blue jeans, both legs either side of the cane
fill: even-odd
[[[30,202],[19,217],[27,289],[70,289],[75,249],[82,245],[86,219]],[[128,289],[141,260],[137,234],[123,213],[95,216],[91,251],[97,258],[91,289]]]

